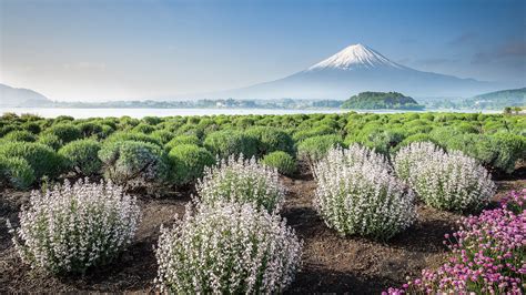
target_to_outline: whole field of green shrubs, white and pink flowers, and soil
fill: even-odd
[[[0,118],[0,292],[520,294],[526,118]]]

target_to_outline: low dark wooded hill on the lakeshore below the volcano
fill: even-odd
[[[422,110],[414,99],[398,92],[362,92],[342,104],[343,109],[357,110]]]

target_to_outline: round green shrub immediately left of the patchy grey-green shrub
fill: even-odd
[[[99,159],[101,144],[94,140],[77,140],[59,150],[64,165],[79,175],[91,176],[100,172],[102,162]]]

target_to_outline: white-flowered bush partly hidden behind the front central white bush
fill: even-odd
[[[254,157],[240,155],[224,159],[218,166],[208,167],[196,190],[201,202],[214,204],[221,201],[252,203],[267,211],[280,211],[284,187],[274,167],[261,165]]]

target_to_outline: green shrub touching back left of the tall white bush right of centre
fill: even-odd
[[[313,163],[324,157],[328,150],[336,145],[343,145],[342,138],[338,135],[310,138],[297,144],[297,157]]]

